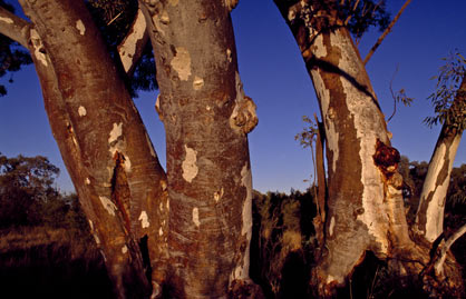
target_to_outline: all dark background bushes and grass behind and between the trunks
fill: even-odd
[[[407,213],[414,216],[427,162],[401,158]],[[104,260],[89,232],[76,195],[55,187],[59,169],[45,157],[0,155],[0,288],[7,298],[113,298]],[[251,277],[268,298],[309,298],[317,248],[312,218],[314,188],[289,195],[254,192]],[[412,217],[410,218],[412,219]],[[446,233],[466,221],[466,165],[452,175]],[[466,265],[466,240],[453,247]],[[465,269],[465,268],[464,268]],[[464,277],[466,272],[463,271]],[[341,298],[427,297],[416,278],[392,279],[370,256],[353,273]]]

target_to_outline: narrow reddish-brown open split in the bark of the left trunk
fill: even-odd
[[[111,177],[111,201],[118,208],[120,217],[125,223],[125,229],[127,232],[130,231],[130,220],[129,220],[129,186],[128,179],[125,172],[125,156],[118,151],[115,151],[114,155],[115,168],[114,176]]]

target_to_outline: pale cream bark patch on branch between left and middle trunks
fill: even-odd
[[[118,49],[123,68],[127,72],[133,66],[133,57],[136,53],[136,44],[143,39],[146,30],[146,21],[140,9],[137,11],[135,24],[133,26],[133,33],[127,37],[122,47]]]

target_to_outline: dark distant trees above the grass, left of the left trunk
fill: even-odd
[[[41,156],[0,155],[0,228],[48,226],[87,233],[76,195],[61,195],[54,182],[59,169]]]

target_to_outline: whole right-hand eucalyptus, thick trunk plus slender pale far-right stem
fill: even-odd
[[[448,90],[447,103],[438,104],[439,110],[449,112],[440,116],[444,129],[424,185],[416,225],[409,227],[402,177],[397,171],[400,155],[390,144],[391,134],[353,41],[353,37],[360,38],[360,31],[351,28],[351,21],[358,23],[355,16],[363,17],[363,11],[377,17],[384,1],[274,2],[301,51],[324,132],[319,141],[326,142],[328,169],[318,182],[318,198],[324,197],[323,203],[318,201],[319,210],[324,212],[314,219],[317,236],[322,237],[311,285],[320,296],[332,296],[371,251],[400,278],[421,277],[424,288],[431,293],[458,293],[463,289],[459,268],[447,255],[450,242],[440,241],[445,196],[465,119],[465,84],[458,83],[464,69],[453,80],[457,86]],[[446,76],[440,76],[440,87]],[[443,102],[446,93],[440,90],[434,99]],[[319,178],[324,163],[317,165]],[[464,228],[454,237],[462,232]],[[437,249],[441,252],[430,258],[429,252]]]

